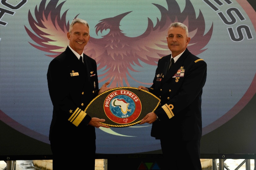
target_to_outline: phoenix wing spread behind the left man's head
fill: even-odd
[[[69,30],[69,22],[66,23],[66,13],[61,16],[60,11],[64,2],[57,6],[58,1],[50,1],[47,6],[46,0],[42,0],[39,8],[35,7],[35,18],[33,18],[30,10],[28,14],[29,25],[34,31],[31,32],[26,26],[26,32],[32,40],[38,45],[31,44],[33,47],[45,51],[49,57],[56,57],[69,45],[67,32]]]

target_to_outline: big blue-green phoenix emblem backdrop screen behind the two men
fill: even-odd
[[[150,87],[159,58],[170,54],[167,29],[177,21],[188,26],[188,49],[208,65],[202,121],[203,135],[209,134],[255,96],[255,16],[242,0],[2,0],[0,121],[49,144],[52,103],[46,74],[53,57],[69,44],[72,19],[89,23],[84,53],[97,62],[100,87],[106,81],[110,87]],[[2,127],[0,141],[11,135]],[[99,128],[97,153],[159,151],[150,129],[149,124]]]

